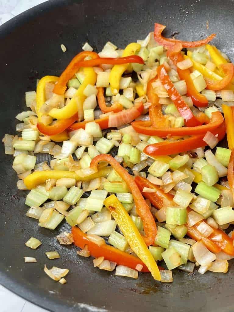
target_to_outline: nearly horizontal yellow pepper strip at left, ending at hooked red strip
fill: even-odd
[[[104,167],[95,173],[92,173],[86,177],[81,177],[75,173],[75,171],[68,170],[45,170],[45,171],[34,171],[29,174],[25,179],[24,183],[29,190],[36,188],[37,185],[43,184],[48,179],[61,179],[61,178],[71,178],[76,179],[76,181],[90,181],[100,177],[107,177],[111,172],[111,167]]]

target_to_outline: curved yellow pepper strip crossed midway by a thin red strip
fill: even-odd
[[[134,55],[136,52],[140,51],[140,48],[141,45],[139,43],[129,43],[129,45],[127,45],[124,49],[122,56],[124,57]],[[126,71],[128,68],[128,65],[129,64],[127,63],[122,65],[115,65],[112,67],[110,71],[110,88],[113,94],[117,94],[119,92],[119,82],[124,71]]]

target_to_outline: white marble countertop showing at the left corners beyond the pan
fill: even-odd
[[[0,0],[0,25],[43,0]],[[0,285],[1,312],[47,312]]]

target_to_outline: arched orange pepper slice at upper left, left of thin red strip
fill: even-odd
[[[71,79],[79,69],[76,64],[80,61],[83,61],[87,56],[90,56],[92,59],[99,58],[99,55],[96,52],[83,51],[77,54],[59,77],[58,83],[55,85],[53,90],[54,93],[59,95],[64,94],[68,80]]]

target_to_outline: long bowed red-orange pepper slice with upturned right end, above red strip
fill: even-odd
[[[205,134],[207,131],[213,131],[218,128],[223,122],[223,116],[220,112],[212,113],[211,120],[208,124],[197,127],[180,127],[180,128],[154,128],[154,127],[143,127],[143,124],[147,124],[147,121],[134,121],[132,127],[135,131],[144,131],[146,135],[157,135],[165,138],[168,134],[171,135],[197,135]],[[138,127],[140,125],[140,128]],[[141,132],[140,132],[141,133]]]

